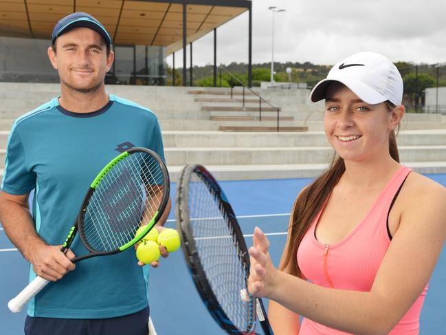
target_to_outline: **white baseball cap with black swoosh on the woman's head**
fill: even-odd
[[[386,100],[401,105],[403,100],[403,78],[397,67],[375,52],[359,52],[333,66],[326,79],[317,83],[311,91],[311,101],[325,99],[326,89],[332,81],[346,85],[370,105]]]

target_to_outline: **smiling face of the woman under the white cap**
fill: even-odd
[[[378,160],[389,155],[389,133],[403,116],[386,102],[369,105],[341,83],[332,83],[326,93],[324,130],[337,154],[348,161]]]

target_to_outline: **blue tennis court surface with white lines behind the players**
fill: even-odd
[[[428,175],[446,186],[446,175]],[[293,199],[309,179],[253,180],[221,182],[238,216],[241,228],[252,245],[254,226],[260,226],[271,241],[271,257],[280,259],[287,238],[287,224]],[[172,184],[175,199],[175,184]],[[175,228],[175,210],[166,226]],[[71,223],[69,223],[71,224]],[[129,250],[129,252],[133,252]],[[0,230],[0,334],[23,334],[25,312],[9,312],[8,300],[27,284],[28,265],[3,229]],[[446,318],[446,248],[430,281],[430,288],[421,314],[421,334],[444,334]],[[194,288],[181,251],[162,260],[161,266],[150,270],[150,314],[159,335],[225,334],[212,320]],[[298,296],[296,296],[298,299]],[[258,332],[261,333],[260,327]]]

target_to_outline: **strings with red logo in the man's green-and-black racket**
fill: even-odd
[[[148,153],[133,153],[113,166],[89,199],[82,233],[94,250],[124,246],[148,224],[164,195],[161,166]]]

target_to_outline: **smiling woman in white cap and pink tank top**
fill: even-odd
[[[337,63],[311,91],[325,99],[336,158],[298,195],[279,270],[259,228],[249,249],[249,292],[271,299],[276,335],[419,334],[446,188],[399,164],[402,96],[397,68],[372,52]]]

